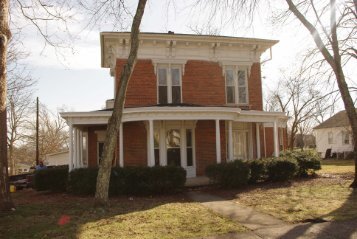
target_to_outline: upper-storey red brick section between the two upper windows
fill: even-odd
[[[182,77],[184,103],[224,105],[225,80],[217,62],[187,61]]]

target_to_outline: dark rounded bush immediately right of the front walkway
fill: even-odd
[[[224,188],[238,188],[248,183],[250,169],[247,162],[235,160],[228,163],[209,165],[206,175],[211,182]]]

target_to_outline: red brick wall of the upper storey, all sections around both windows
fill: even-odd
[[[116,63],[116,83],[126,60]],[[260,63],[254,63],[248,79],[250,109],[262,110],[262,86]],[[225,79],[217,62],[189,60],[182,76],[182,102],[207,106],[226,104]],[[140,107],[157,104],[157,80],[151,60],[137,61],[130,79],[125,107]]]

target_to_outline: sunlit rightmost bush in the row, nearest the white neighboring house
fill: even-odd
[[[295,159],[298,162],[297,176],[299,177],[314,175],[316,170],[321,169],[321,158],[315,151],[286,151],[280,156]]]

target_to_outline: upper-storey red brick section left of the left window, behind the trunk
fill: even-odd
[[[126,60],[118,59],[115,87],[118,90],[120,72]],[[148,106],[157,103],[156,75],[151,60],[138,60],[126,92],[125,107]]]

